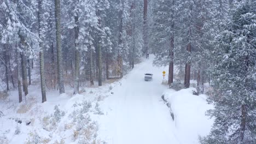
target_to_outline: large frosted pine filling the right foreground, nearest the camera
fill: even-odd
[[[213,70],[215,118],[210,135],[201,143],[256,142],[256,1],[235,1],[231,17],[217,37],[218,57]]]

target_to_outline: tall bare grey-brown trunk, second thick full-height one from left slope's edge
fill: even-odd
[[[60,94],[65,93],[63,68],[62,68],[62,50],[61,50],[61,9],[60,0],[55,0],[55,21],[56,21],[56,45],[57,45],[57,69],[59,78]]]

